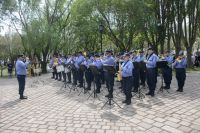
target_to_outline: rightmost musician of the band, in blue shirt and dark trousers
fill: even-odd
[[[176,79],[178,82],[177,91],[183,92],[183,87],[186,79],[186,67],[187,67],[187,59],[184,56],[183,51],[179,52],[179,57],[173,63],[173,67],[176,70]]]

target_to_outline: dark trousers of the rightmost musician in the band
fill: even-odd
[[[178,89],[183,90],[186,79],[186,71],[184,68],[176,68],[176,79],[178,82]]]

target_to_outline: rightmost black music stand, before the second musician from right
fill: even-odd
[[[156,62],[156,66],[157,66],[157,68],[159,68],[161,70],[161,87],[157,93],[159,93],[159,92],[163,93],[163,91],[166,90],[163,86],[163,82],[164,82],[163,69],[167,67],[167,61],[158,61],[158,62]],[[168,90],[166,90],[166,91],[169,93]]]

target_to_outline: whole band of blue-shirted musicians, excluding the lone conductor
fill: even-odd
[[[52,79],[63,82],[72,83],[77,87],[82,88],[84,79],[86,79],[86,91],[91,90],[91,83],[94,81],[96,93],[101,92],[101,84],[106,83],[108,94],[107,98],[113,98],[113,87],[117,72],[117,79],[122,86],[122,92],[125,94],[125,100],[122,103],[131,104],[132,92],[137,93],[140,85],[145,87],[145,82],[149,89],[146,95],[154,97],[159,60],[166,61],[167,66],[162,68],[162,76],[164,79],[164,89],[170,89],[172,80],[172,69],[175,68],[176,79],[178,82],[179,92],[183,92],[183,87],[186,79],[187,60],[183,52],[179,52],[178,58],[175,59],[169,51],[166,51],[164,57],[159,57],[154,53],[153,48],[147,49],[145,56],[144,51],[131,51],[125,54],[119,54],[114,57],[112,50],[106,50],[104,54],[88,53],[83,55],[78,52],[73,55],[62,56],[54,54],[50,60],[50,68],[52,68]],[[86,70],[83,71],[82,67]],[[91,67],[96,67],[97,73],[91,71]],[[109,71],[106,66],[112,66],[117,71]],[[73,78],[72,78],[73,77]],[[73,79],[73,80],[72,80]],[[79,85],[77,85],[79,82]]]

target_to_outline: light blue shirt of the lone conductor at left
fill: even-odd
[[[26,67],[28,65],[28,62],[24,63],[21,60],[17,60],[16,62],[16,72],[17,75],[26,75]]]

